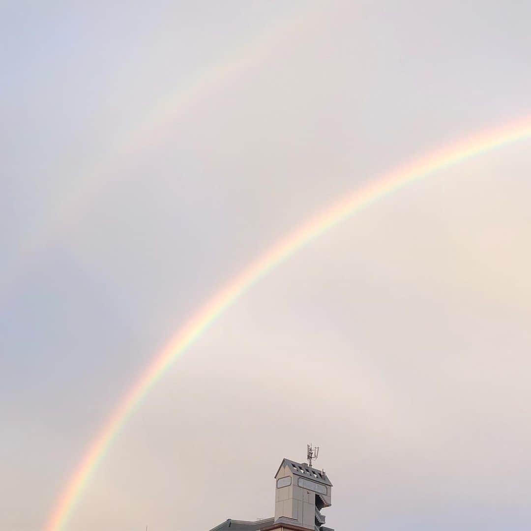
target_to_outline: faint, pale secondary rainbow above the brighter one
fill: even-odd
[[[321,11],[313,8],[304,10],[303,13],[290,11],[253,36],[243,48],[237,48],[222,57],[218,63],[193,73],[189,79],[182,81],[177,90],[161,96],[134,129],[125,131],[122,138],[116,140],[109,157],[102,157],[82,178],[75,179],[78,184],[55,205],[47,222],[39,224],[29,238],[19,241],[19,249],[15,253],[19,261],[7,264],[7,275],[2,271],[0,289],[3,287],[2,281],[8,283],[8,279],[4,277],[11,277],[12,280],[12,277],[16,278],[21,271],[25,272],[25,268],[30,267],[30,263],[23,262],[24,258],[42,251],[58,238],[64,237],[65,232],[80,223],[92,202],[109,184],[116,183],[127,175],[121,166],[124,161],[165,138],[170,124],[178,122],[191,109],[200,105],[201,101],[208,100],[217,91],[230,87],[230,84],[241,78],[247,70],[266,61],[272,50],[280,48],[286,41],[289,42],[289,39],[296,39],[304,31],[316,26],[321,17]],[[110,140],[110,143],[113,144],[113,141]]]

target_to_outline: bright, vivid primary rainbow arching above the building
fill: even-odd
[[[390,193],[396,192],[403,186],[492,149],[530,138],[531,118],[527,118],[524,121],[489,130],[431,152],[374,179],[361,189],[332,204],[258,256],[227,285],[213,294],[176,332],[175,336],[155,356],[139,380],[134,383],[115,407],[67,482],[64,492],[49,516],[47,531],[59,531],[64,528],[92,474],[142,398],[155,386],[175,359],[202,335],[218,315],[233,304],[255,282],[267,275],[289,256],[309,244],[314,238],[327,232],[355,212]]]

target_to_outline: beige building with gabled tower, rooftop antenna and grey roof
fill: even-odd
[[[275,474],[275,516],[263,520],[228,519],[210,531],[334,531],[324,527],[321,510],[332,504],[332,483],[324,470],[282,459]]]

